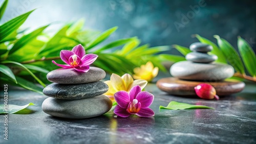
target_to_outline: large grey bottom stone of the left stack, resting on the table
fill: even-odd
[[[42,111],[52,116],[64,118],[95,117],[108,112],[111,107],[112,101],[105,95],[69,101],[47,98],[42,103]]]

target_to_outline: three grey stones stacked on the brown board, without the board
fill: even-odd
[[[209,55],[212,46],[195,42],[190,45],[193,51],[186,55],[187,61],[175,63],[170,68],[173,77],[192,81],[222,81],[230,78],[234,74],[234,69],[228,64],[215,63],[218,59],[216,55]]]

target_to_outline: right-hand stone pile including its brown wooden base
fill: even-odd
[[[237,81],[225,81],[234,74],[232,66],[215,62],[218,57],[209,55],[212,46],[196,42],[190,45],[193,51],[186,55],[186,61],[180,61],[170,67],[173,77],[157,81],[159,89],[174,95],[196,95],[195,86],[209,83],[215,87],[217,94],[229,95],[243,90],[245,84]]]

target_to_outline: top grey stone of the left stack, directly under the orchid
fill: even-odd
[[[80,73],[73,68],[55,69],[47,74],[47,79],[50,82],[60,84],[82,84],[97,82],[104,79],[106,73],[103,69],[98,67],[90,67],[87,73]]]

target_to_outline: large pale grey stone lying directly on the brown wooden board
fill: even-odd
[[[170,67],[170,74],[184,80],[221,81],[232,77],[234,69],[228,64],[181,61]]]

